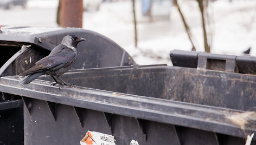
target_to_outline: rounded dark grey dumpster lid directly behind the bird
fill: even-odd
[[[8,69],[10,64],[15,61],[22,61],[18,65],[25,65],[22,67],[29,69],[36,61],[39,60],[39,58],[46,56],[46,52],[50,52],[56,45],[60,44],[63,37],[71,34],[86,38],[86,42],[78,44],[78,56],[72,65],[73,69],[117,67],[136,64],[133,58],[117,43],[94,31],[81,28],[35,28],[9,26],[3,26],[1,27],[1,30],[1,52],[7,51],[7,49],[21,49],[22,45],[32,44],[29,49],[26,51],[18,51],[8,60],[8,62],[3,66],[0,66],[1,76],[3,76],[2,73]],[[28,56],[33,57],[33,59],[25,58]],[[29,59],[33,64],[24,64],[24,59]],[[0,61],[3,63],[3,60]],[[19,67],[16,68],[18,69]],[[16,73],[21,72],[17,71]],[[5,73],[4,76],[6,75],[17,74]]]

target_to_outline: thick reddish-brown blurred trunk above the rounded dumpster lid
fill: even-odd
[[[59,0],[57,23],[60,27],[82,28],[82,0]]]

